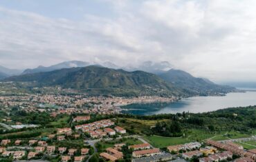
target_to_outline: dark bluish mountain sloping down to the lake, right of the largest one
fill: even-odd
[[[226,85],[217,85],[208,79],[193,77],[188,72],[182,70],[171,69],[158,74],[158,76],[169,83],[173,83],[177,88],[184,88],[188,90],[188,93],[192,94],[212,95],[235,90],[235,88]]]

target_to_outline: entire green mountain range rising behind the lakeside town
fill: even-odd
[[[77,66],[85,65],[84,62]],[[65,62],[52,69],[72,65]],[[50,68],[43,68],[50,70]],[[37,69],[38,70],[38,69]],[[152,74],[141,70],[128,72],[104,68],[101,65],[89,65],[77,68],[62,68],[48,72],[28,72],[3,81],[36,81],[39,86],[61,86],[73,88],[89,94],[113,94],[122,96],[160,95],[160,96],[192,96],[212,95],[231,92],[234,88],[214,84],[205,79],[195,78],[182,70],[158,70]]]

